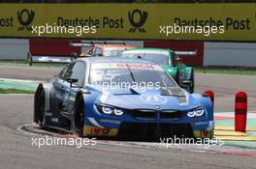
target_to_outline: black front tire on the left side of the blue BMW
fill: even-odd
[[[83,125],[84,125],[84,102],[80,95],[75,104],[75,128],[76,133],[82,137],[83,135]]]

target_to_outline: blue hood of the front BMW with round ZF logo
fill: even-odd
[[[201,106],[199,99],[176,87],[164,89],[99,89],[96,104],[107,104],[124,109],[189,110]]]

